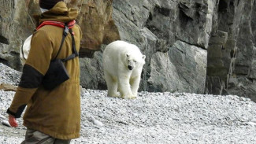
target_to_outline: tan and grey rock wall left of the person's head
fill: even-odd
[[[28,1],[0,0],[0,62],[18,70],[20,46],[35,28],[28,5]]]

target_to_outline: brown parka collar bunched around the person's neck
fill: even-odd
[[[76,20],[78,10],[71,8],[68,9],[65,2],[58,2],[52,9],[41,14],[39,24],[43,21],[60,21],[67,23],[71,20]]]

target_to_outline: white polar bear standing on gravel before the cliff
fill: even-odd
[[[145,58],[137,46],[128,42],[118,40],[106,46],[102,63],[109,97],[137,97]]]

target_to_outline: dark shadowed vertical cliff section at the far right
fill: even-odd
[[[208,48],[207,92],[256,102],[255,10],[256,1],[218,2]]]

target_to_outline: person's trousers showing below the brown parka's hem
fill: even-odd
[[[40,131],[30,130],[26,131],[25,140],[21,144],[69,144],[69,140],[62,140],[53,138],[50,135],[43,134]]]

